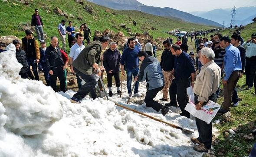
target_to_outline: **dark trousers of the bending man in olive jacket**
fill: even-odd
[[[74,94],[73,97],[78,98],[79,100],[82,100],[86,95],[90,93],[92,99],[95,99],[97,97],[96,91],[95,91],[95,85],[97,84],[97,81],[94,77],[94,75],[85,75],[84,73],[80,72],[78,69],[75,69],[73,67],[75,73],[79,75],[83,80],[85,80],[85,84]]]

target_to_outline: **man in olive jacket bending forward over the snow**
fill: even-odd
[[[100,56],[102,50],[108,46],[109,41],[109,37],[102,36],[99,40],[88,44],[72,63],[75,73],[85,80],[85,84],[71,98],[72,103],[80,103],[89,93],[93,99],[97,97],[95,92],[97,81],[93,75],[93,70],[98,72],[99,76],[101,75]]]

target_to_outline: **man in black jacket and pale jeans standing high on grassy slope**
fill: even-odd
[[[33,26],[35,26],[35,30],[36,30],[36,36],[38,38],[39,41],[43,40],[43,21],[41,19],[41,16],[39,16],[38,14],[39,10],[35,9],[35,13],[32,15],[31,18],[31,26],[33,28]]]

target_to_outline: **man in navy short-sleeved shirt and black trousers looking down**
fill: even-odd
[[[171,71],[170,80],[171,86],[169,88],[171,102],[165,106],[175,106],[178,104],[181,108],[181,116],[186,116],[190,118],[190,113],[185,110],[188,103],[187,87],[190,82],[194,87],[196,81],[196,71],[194,68],[194,63],[191,57],[181,50],[181,47],[177,44],[171,46],[171,52],[175,55],[174,69]],[[174,79],[172,79],[174,76]],[[177,99],[176,99],[177,95]]]

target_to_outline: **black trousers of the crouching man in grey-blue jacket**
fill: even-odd
[[[163,105],[159,104],[157,101],[155,101],[153,99],[158,94],[158,92],[161,91],[163,88],[164,88],[164,86],[155,88],[155,89],[151,89],[146,92],[146,96],[144,99],[144,101],[146,103],[146,107],[152,107],[157,112],[160,111],[160,109],[163,107]]]

